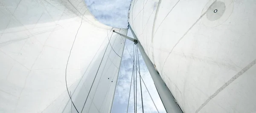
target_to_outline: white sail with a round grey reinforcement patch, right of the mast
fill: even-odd
[[[133,0],[129,23],[184,113],[252,113],[255,10],[254,0]]]

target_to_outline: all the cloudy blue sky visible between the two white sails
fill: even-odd
[[[109,25],[116,28],[127,28],[128,20],[128,9],[131,0],[85,0],[91,13],[105,25]],[[132,37],[131,31],[128,30],[128,37]],[[116,93],[113,101],[112,113],[126,113],[128,100],[129,100],[129,90],[131,85],[131,73],[133,68],[133,61],[130,54],[133,56],[134,43],[130,40],[126,40],[125,49],[123,52],[122,62],[119,71],[119,78],[116,87]],[[130,53],[130,54],[129,54]],[[149,93],[157,107],[155,108],[145,85],[142,84],[143,93],[143,107],[144,113],[166,113],[161,99],[157,93],[154,86],[154,82],[148,72],[145,62],[139,53],[140,61],[140,73],[148,88]],[[137,113],[142,113],[142,103],[140,96],[140,81],[139,73],[137,73]],[[136,83],[136,82],[135,82]],[[129,101],[128,113],[134,113],[134,86],[133,82],[131,85],[131,96]]]

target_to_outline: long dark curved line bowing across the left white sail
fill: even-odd
[[[85,13],[85,12],[84,12],[84,13]],[[83,17],[84,17],[84,14],[83,14]],[[82,25],[82,22],[83,22],[83,20],[81,19],[81,23],[80,23],[80,25],[79,25],[79,28],[78,28],[78,30],[76,31],[76,36],[77,36],[78,31],[79,31],[79,29],[80,29],[80,27],[81,27],[81,25]],[[69,62],[69,59],[70,59],[71,51],[72,51],[73,46],[74,46],[74,43],[75,43],[75,41],[76,41],[76,36],[75,36],[75,38],[74,38],[73,44],[72,44],[71,49],[70,49],[69,56],[68,56],[68,58],[67,58],[67,65],[68,65],[68,62]],[[65,69],[66,88],[67,88],[67,65],[66,65],[66,69]],[[75,109],[76,109],[76,106],[75,106],[74,102],[73,102],[72,99],[71,99],[71,95],[70,95],[70,93],[69,93],[68,88],[67,88],[67,93],[68,93],[68,96],[70,97],[70,100],[71,100],[72,104],[74,105],[74,107],[75,107]],[[77,109],[76,109],[76,111],[77,111],[77,113],[79,113],[79,111],[78,111]]]

